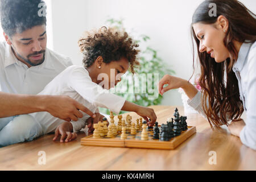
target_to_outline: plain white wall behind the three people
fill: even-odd
[[[192,75],[190,24],[202,0],[52,0],[53,49],[81,65],[77,40],[85,30],[100,28],[105,20],[123,18],[125,27],[150,36],[150,46],[172,65],[177,77]],[[241,0],[256,13],[255,0]],[[182,105],[180,94],[164,94],[162,105]]]

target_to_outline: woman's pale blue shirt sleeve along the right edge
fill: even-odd
[[[243,127],[240,138],[243,144],[256,150],[256,44],[248,55],[248,82],[246,88],[246,125]]]

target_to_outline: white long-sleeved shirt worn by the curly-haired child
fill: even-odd
[[[125,104],[125,99],[109,90],[103,89],[92,81],[89,72],[82,66],[72,65],[57,75],[43,89],[40,95],[64,95],[69,96],[95,113],[98,107],[105,107],[118,114]],[[83,113],[83,112],[82,112]],[[55,131],[56,127],[65,122],[63,119],[53,117],[47,112],[31,114],[42,125],[44,134]],[[86,125],[90,116],[83,113],[78,121],[72,121],[73,132],[80,131]]]

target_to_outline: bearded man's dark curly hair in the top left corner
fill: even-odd
[[[41,0],[1,0],[0,16],[3,31],[8,36],[46,24],[46,17],[39,16]]]

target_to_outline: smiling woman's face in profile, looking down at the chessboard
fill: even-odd
[[[218,22],[215,24],[195,23],[193,30],[200,41],[200,52],[206,51],[217,63],[230,57],[228,49],[224,46],[225,28],[221,27]]]

